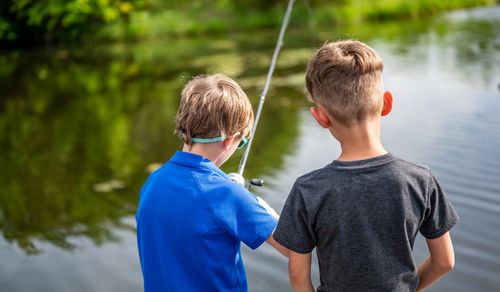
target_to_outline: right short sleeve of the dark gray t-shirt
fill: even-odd
[[[448,232],[458,221],[458,214],[446,198],[437,179],[431,174],[428,201],[420,233],[428,239],[438,238]]]

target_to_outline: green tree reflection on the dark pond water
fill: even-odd
[[[134,213],[148,164],[180,147],[172,129],[185,80],[203,72],[233,71],[242,80],[265,72],[261,59],[270,48],[246,53],[236,45],[183,40],[168,50],[159,43],[2,54],[5,239],[38,253],[35,241],[72,249],[67,237],[99,245],[114,239],[114,229],[132,230],[120,219]],[[246,66],[247,54],[259,65]],[[297,106],[289,97],[295,90],[274,93],[280,97],[263,112],[249,175],[279,167],[297,135]],[[235,170],[238,161],[225,169]]]

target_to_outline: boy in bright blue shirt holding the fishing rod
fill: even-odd
[[[198,76],[181,94],[176,133],[182,151],[141,189],[137,243],[149,291],[247,291],[240,242],[273,239],[278,215],[219,167],[246,144],[253,111],[222,74]]]

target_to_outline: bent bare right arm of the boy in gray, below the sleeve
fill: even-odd
[[[417,291],[423,291],[431,286],[441,276],[451,271],[455,264],[455,253],[449,232],[426,241],[430,256],[417,269],[420,278]]]

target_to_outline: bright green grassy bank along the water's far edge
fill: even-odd
[[[443,11],[498,3],[495,0],[358,0],[327,3],[297,1],[292,26],[318,24],[352,24],[416,19]],[[266,10],[230,11],[217,7],[187,10],[166,9],[158,12],[133,13],[127,21],[118,21],[99,31],[106,40],[139,40],[165,36],[223,33],[234,30],[276,27],[285,10],[285,1]]]

